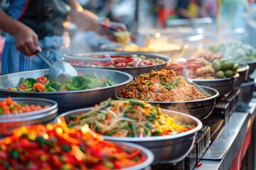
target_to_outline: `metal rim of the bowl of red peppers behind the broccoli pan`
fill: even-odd
[[[149,58],[150,57],[160,57],[160,59],[164,59],[166,61],[164,61],[164,63],[160,63],[160,64],[154,64],[154,65],[149,65],[149,66],[139,66],[139,67],[90,67],[90,66],[84,66],[84,68],[102,68],[102,69],[135,69],[135,68],[149,68],[149,67],[154,67],[154,66],[161,66],[164,64],[167,64],[169,62],[171,62],[171,59],[165,55],[160,55],[157,53],[153,53],[153,52],[117,52],[117,51],[107,51],[107,52],[88,52],[86,53],[87,55],[148,55]],[[75,55],[75,54],[74,54]],[[68,58],[71,60],[71,57]],[[75,65],[73,65],[73,67],[76,67]],[[79,66],[78,66],[79,67]],[[82,66],[80,66],[82,67]]]

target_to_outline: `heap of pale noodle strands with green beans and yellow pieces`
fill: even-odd
[[[195,128],[161,113],[161,108],[144,101],[130,99],[102,101],[92,110],[80,115],[70,115],[71,127],[85,124],[101,135],[114,137],[151,137],[174,135]]]

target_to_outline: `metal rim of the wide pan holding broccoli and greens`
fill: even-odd
[[[92,69],[92,68],[86,68],[86,69]],[[47,71],[48,69],[40,69],[40,71]],[[102,71],[104,72],[105,69],[97,69],[97,71]],[[112,69],[107,69],[107,71],[110,71],[110,72],[119,72],[120,74],[124,74],[126,75],[127,77],[129,77],[126,81],[122,82],[121,84],[116,84],[116,85],[113,85],[113,86],[107,86],[107,87],[102,87],[102,88],[99,88],[97,90],[104,90],[104,89],[110,89],[112,87],[115,87],[115,86],[122,86],[124,84],[127,84],[129,83],[129,81],[132,81],[133,77],[131,74],[128,74],[126,72],[121,72],[121,71],[118,71],[118,70],[112,70]],[[30,71],[25,71],[25,72],[35,72],[35,70],[30,70]],[[17,72],[18,73],[22,73],[22,72]],[[16,73],[14,73],[16,74]],[[4,75],[3,75],[4,76]],[[2,91],[8,91],[9,93],[14,93],[16,94],[17,91],[9,91],[7,89],[1,89]],[[85,89],[85,90],[78,90],[78,91],[58,91],[58,92],[23,92],[23,91],[18,91],[18,93],[24,93],[24,94],[69,94],[69,93],[80,93],[82,91],[95,91],[95,89]]]

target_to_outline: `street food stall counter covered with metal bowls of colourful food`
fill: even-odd
[[[0,75],[0,168],[255,169],[256,48],[212,23],[68,52],[73,77]]]

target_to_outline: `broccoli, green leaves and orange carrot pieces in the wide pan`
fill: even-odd
[[[95,89],[105,86],[116,85],[107,77],[100,79],[92,72],[92,76],[78,76],[73,77],[70,84],[60,84],[59,82],[50,81],[48,74],[36,79],[23,77],[18,82],[18,86],[9,87],[9,91],[23,91],[23,92],[60,92],[60,91],[79,91],[85,89]]]

